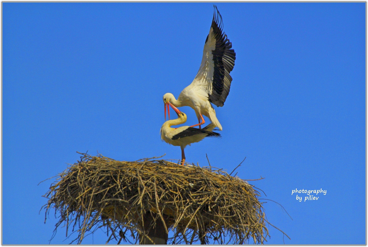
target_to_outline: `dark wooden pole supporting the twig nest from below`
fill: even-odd
[[[155,218],[157,219],[155,221]],[[167,244],[168,234],[165,231],[164,222],[155,213],[146,212],[144,215],[144,230],[146,236],[139,236],[139,244]]]

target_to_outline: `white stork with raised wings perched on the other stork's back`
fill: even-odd
[[[178,99],[175,99],[172,93],[165,93],[163,102],[166,105],[170,119],[169,105],[171,102],[174,106],[190,106],[195,110],[198,118],[198,126],[205,123],[202,115],[208,117],[212,123],[222,130],[222,126],[216,118],[215,109],[211,103],[216,106],[223,106],[227,95],[229,95],[230,84],[233,78],[230,71],[233,70],[235,64],[235,52],[231,48],[231,42],[227,35],[222,31],[222,17],[215,8],[213,13],[212,25],[206,38],[203,49],[203,57],[201,66],[192,83],[181,91]]]

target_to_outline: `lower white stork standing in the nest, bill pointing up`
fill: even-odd
[[[184,165],[185,154],[184,148],[194,142],[202,141],[205,137],[221,137],[219,133],[213,132],[212,130],[216,127],[213,123],[203,129],[193,128],[190,126],[181,126],[178,128],[171,128],[173,125],[185,123],[187,121],[187,115],[184,112],[180,112],[170,102],[168,103],[173,107],[174,111],[178,114],[177,119],[166,121],[160,130],[161,140],[174,145],[180,146],[181,148],[181,165]]]

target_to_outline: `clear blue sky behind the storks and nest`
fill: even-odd
[[[216,3],[236,52],[222,139],[185,149],[261,188],[286,244],[365,244],[365,3]],[[166,154],[162,96],[194,79],[212,3],[2,3],[3,244],[48,244],[53,180],[98,152]],[[194,110],[182,107],[188,125]],[[172,113],[174,114],[174,113]],[[206,119],[207,122],[208,119]],[[295,189],[326,190],[317,201]],[[305,195],[305,194],[304,194]],[[303,196],[304,196],[303,195]],[[270,244],[283,234],[269,227]],[[67,244],[60,228],[52,244]],[[100,231],[83,243],[104,244]]]

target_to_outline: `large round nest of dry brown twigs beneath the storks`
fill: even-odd
[[[269,236],[259,192],[222,169],[82,155],[45,195],[45,220],[55,208],[60,216],[54,232],[60,225],[67,235],[77,232],[71,243],[101,227],[106,227],[106,243],[137,243],[146,234],[147,212],[165,222],[167,243],[263,243]]]

